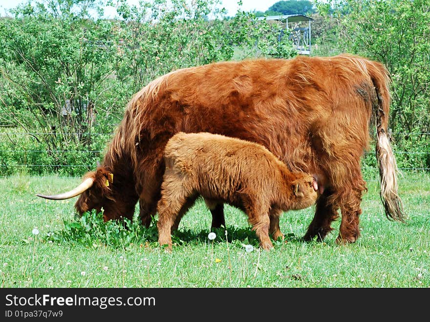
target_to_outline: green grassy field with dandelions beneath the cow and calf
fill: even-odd
[[[203,202],[186,215],[172,254],[154,242],[154,227],[128,229],[91,216],[74,218],[76,198],[48,201],[35,193],[72,188],[80,178],[17,175],[0,179],[0,272],[2,287],[429,287],[430,176],[400,178],[406,224],[388,221],[379,184],[368,181],[362,202],[362,236],[355,244],[323,243],[303,236],[313,208],[281,216],[287,242],[270,252],[257,246],[246,217],[226,209],[224,231],[208,240],[211,216]],[[33,235],[37,227],[38,235]],[[233,239],[233,240],[232,240]],[[232,242],[230,242],[232,241]],[[231,263],[231,266],[229,264]],[[230,269],[231,267],[231,269]]]

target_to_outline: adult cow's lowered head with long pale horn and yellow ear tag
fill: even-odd
[[[110,169],[99,166],[96,171],[86,173],[83,182],[71,191],[55,195],[37,194],[37,196],[45,199],[64,200],[79,195],[75,209],[81,216],[91,210],[99,213],[103,208],[105,221],[118,219],[121,216],[129,217],[129,214],[124,214],[125,211],[129,211],[129,207],[123,205],[124,198],[120,198],[119,202],[115,200],[114,180]],[[119,190],[118,187],[116,190]]]

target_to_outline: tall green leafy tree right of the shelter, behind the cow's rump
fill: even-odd
[[[329,15],[330,6],[326,1],[322,4],[322,13]],[[413,151],[399,155],[398,163],[430,167],[430,1],[342,0],[331,4],[339,23],[333,45],[387,66],[391,131],[402,150]]]

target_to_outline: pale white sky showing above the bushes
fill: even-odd
[[[242,0],[243,11],[266,11],[274,3],[279,0]],[[20,3],[25,3],[27,0],[0,0],[0,16],[5,15],[5,9],[16,7]],[[139,0],[128,0],[129,4],[137,4]],[[237,0],[221,0],[221,7],[226,8],[228,16],[234,16],[238,9]],[[109,13],[108,10],[105,13]]]

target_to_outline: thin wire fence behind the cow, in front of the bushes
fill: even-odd
[[[425,136],[426,138],[430,138],[430,132],[393,132],[392,134],[396,135],[408,135],[413,136]],[[23,137],[26,136],[31,140],[37,140],[36,136],[78,136],[82,137],[83,135],[87,136],[98,136],[103,137],[104,140],[108,140],[113,137],[114,133],[99,133],[99,132],[87,132],[87,133],[72,133],[72,132],[0,132],[0,142],[4,142],[5,140],[9,140],[12,142],[11,137]],[[429,139],[430,141],[430,139]],[[424,142],[424,143],[423,143]],[[412,148],[414,145],[412,145]],[[66,170],[63,174],[70,174],[73,169],[75,169],[77,173],[75,175],[80,175],[85,173],[86,171],[91,171],[95,169],[94,164],[88,164],[89,159],[99,159],[103,158],[104,150],[94,149],[94,150],[75,150],[75,149],[26,149],[25,147],[19,147],[15,144],[14,148],[5,147],[4,145],[0,148],[0,177],[5,177],[10,174],[14,174],[16,172],[20,172],[23,169],[39,169],[39,172],[43,173],[57,173],[61,172],[61,169],[69,169]],[[28,156],[31,154],[30,160],[28,160]],[[40,158],[39,158],[40,154]],[[430,142],[424,140],[421,141],[421,148],[419,151],[414,150],[395,150],[394,154],[396,158],[409,158],[411,161],[406,166],[399,166],[399,170],[401,172],[429,172],[430,171]],[[14,157],[12,158],[11,155]],[[54,158],[48,158],[48,161],[51,162],[41,162],[43,161],[42,156],[50,155],[55,156]],[[69,155],[75,156],[79,158],[80,162],[73,162],[73,160],[67,159],[69,164],[64,164],[64,162],[52,162],[55,159],[61,159],[61,156]],[[375,177],[378,174],[378,167],[376,164],[375,152],[368,151],[364,153],[364,158],[371,158],[373,161],[369,162],[371,165],[366,164],[362,167],[362,171],[364,171],[364,176],[367,177],[366,181],[377,181]],[[39,162],[38,162],[39,161]],[[64,160],[63,160],[64,161]],[[75,160],[78,161],[78,160]],[[82,163],[83,162],[83,163]],[[410,164],[414,163],[414,164]],[[7,169],[7,172],[5,171]],[[5,174],[7,173],[7,174]],[[40,173],[39,173],[40,174]]]

